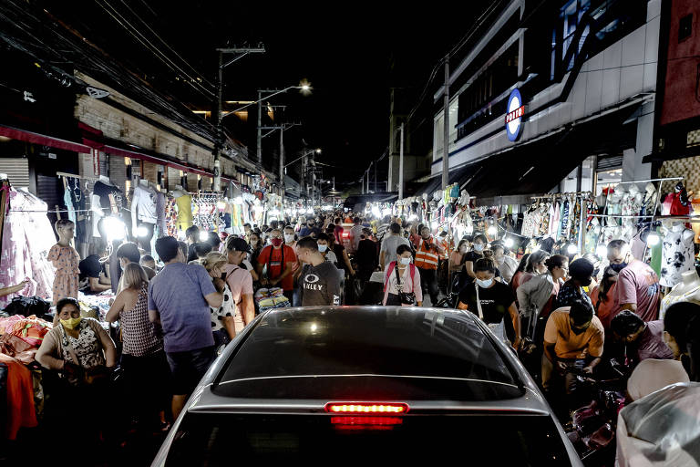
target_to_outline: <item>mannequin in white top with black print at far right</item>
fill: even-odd
[[[683,273],[695,267],[693,262],[695,233],[685,228],[684,223],[678,221],[674,221],[670,229],[667,227],[667,223],[664,223],[664,227],[666,227],[667,233],[664,237],[659,284],[673,287],[681,282]]]

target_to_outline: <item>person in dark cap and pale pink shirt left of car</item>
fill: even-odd
[[[251,252],[251,247],[242,238],[230,236],[226,239],[226,254],[229,264],[223,268],[223,279],[229,285],[236,313],[233,323],[236,334],[243,330],[255,317],[255,304],[252,301],[252,275],[241,264]]]

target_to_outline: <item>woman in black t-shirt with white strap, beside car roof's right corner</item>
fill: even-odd
[[[520,348],[520,317],[510,287],[495,280],[496,265],[490,258],[479,258],[474,273],[474,284],[459,292],[458,308],[474,313],[496,336],[504,340],[510,337],[513,348]]]

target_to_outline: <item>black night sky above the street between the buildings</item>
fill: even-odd
[[[450,5],[447,15],[431,9],[441,5],[427,3],[392,3],[396,7],[381,11],[378,3],[40,3],[110,56],[193,108],[211,109],[206,96],[214,88],[207,81],[216,82],[216,47],[262,42],[265,54],[243,57],[226,68],[224,100],[254,100],[258,88],[286,88],[308,80],[314,88],[311,96],[290,90],[272,102],[289,106],[287,121],[304,124],[285,132],[287,155],[293,157],[302,140],[322,148],[320,161],[334,166],[325,169],[324,177],[335,175],[341,183],[356,182],[369,161],[386,150],[389,89],[410,88],[412,101],[417,101],[440,57],[491,2]],[[118,21],[135,26],[143,36],[129,33]],[[156,57],[142,42],[157,47],[175,65]],[[195,90],[176,80],[183,71],[201,78],[202,88],[199,81]]]

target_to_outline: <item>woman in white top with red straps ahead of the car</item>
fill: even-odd
[[[400,244],[396,248],[398,261],[386,266],[384,278],[384,300],[388,306],[423,306],[423,290],[420,287],[420,272],[411,263],[410,246]]]

